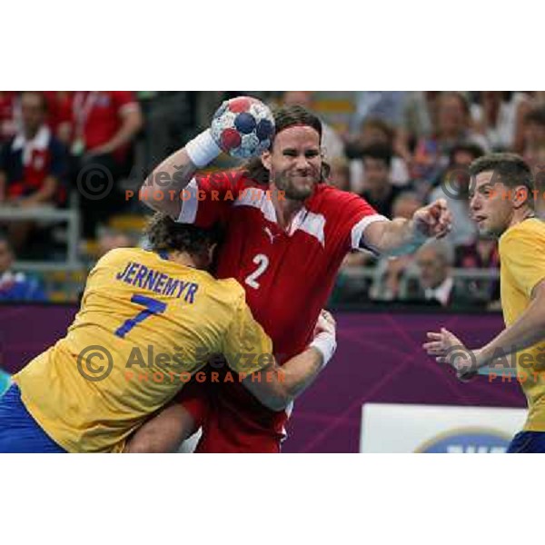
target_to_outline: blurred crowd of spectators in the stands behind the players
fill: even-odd
[[[333,303],[494,307],[497,244],[471,223],[467,167],[512,151],[539,173],[545,92],[0,92],[0,301],[73,301],[100,255],[139,242],[147,211],[127,190],[243,93],[318,114],[328,183],[379,213],[451,207],[451,234],[413,256],[347,256]]]

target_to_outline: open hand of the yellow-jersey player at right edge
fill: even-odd
[[[438,363],[448,363],[462,382],[471,381],[478,374],[480,351],[471,351],[453,333],[441,328],[441,332],[428,332],[429,342],[423,349]]]

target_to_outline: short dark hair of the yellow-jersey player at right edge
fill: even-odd
[[[510,188],[522,185],[529,193],[534,189],[530,166],[520,155],[488,154],[476,159],[470,165],[471,178],[488,171],[493,173],[492,182],[503,183]],[[527,203],[532,205],[533,199],[527,199]]]

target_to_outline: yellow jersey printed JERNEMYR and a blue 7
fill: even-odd
[[[122,451],[216,353],[246,374],[271,362],[241,358],[271,354],[272,342],[240,284],[165,255],[118,249],[89,274],[64,339],[14,381],[25,410],[65,451]]]

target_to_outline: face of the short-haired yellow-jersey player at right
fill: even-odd
[[[510,188],[492,181],[492,176],[491,171],[483,172],[471,181],[471,217],[481,234],[500,236],[509,227],[514,208],[512,201],[506,198]]]

